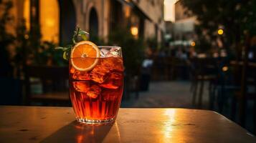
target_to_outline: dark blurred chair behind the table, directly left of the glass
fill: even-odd
[[[26,104],[69,106],[68,67],[25,67]]]

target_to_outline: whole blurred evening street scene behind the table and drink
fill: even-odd
[[[123,48],[121,107],[210,109],[256,133],[255,0],[0,0],[0,104],[71,106],[55,46]]]

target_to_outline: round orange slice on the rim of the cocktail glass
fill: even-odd
[[[71,64],[79,71],[89,71],[98,63],[100,50],[91,41],[80,41],[71,50]]]

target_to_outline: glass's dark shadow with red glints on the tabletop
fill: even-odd
[[[103,142],[112,127],[113,123],[90,125],[74,121],[46,137],[42,142]]]

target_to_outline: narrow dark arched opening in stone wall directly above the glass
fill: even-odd
[[[97,39],[98,37],[98,14],[95,10],[95,8],[92,8],[90,10],[90,19],[89,19],[89,33],[90,33],[90,39]]]

